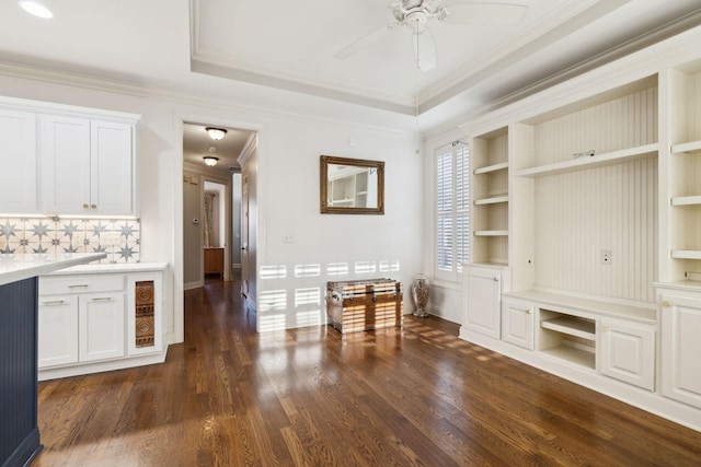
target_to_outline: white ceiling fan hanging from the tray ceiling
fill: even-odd
[[[412,32],[416,65],[422,71],[428,71],[437,65],[436,42],[426,25],[429,20],[436,19],[451,24],[515,24],[528,10],[527,5],[510,3],[460,0],[452,0],[447,7],[440,3],[440,0],[401,0],[391,3],[389,9],[394,16],[394,22],[360,37],[334,55],[334,58],[348,58],[393,33],[399,26],[407,26]]]

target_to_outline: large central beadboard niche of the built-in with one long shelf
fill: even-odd
[[[509,126],[514,284],[654,301],[657,121],[648,77]]]

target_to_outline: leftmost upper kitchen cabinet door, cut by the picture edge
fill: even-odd
[[[34,213],[36,194],[36,116],[0,109],[0,212]]]

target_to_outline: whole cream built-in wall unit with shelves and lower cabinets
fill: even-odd
[[[461,126],[472,209],[460,337],[701,429],[694,47],[677,65],[612,63]]]

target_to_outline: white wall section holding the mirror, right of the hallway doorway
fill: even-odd
[[[261,140],[267,189],[258,188],[267,199],[260,215],[267,235],[260,245],[265,255],[258,255],[260,329],[323,323],[330,280],[395,278],[411,303],[423,236],[422,160],[414,155],[413,138],[297,119],[272,122]],[[384,161],[384,215],[321,214],[322,154]]]

